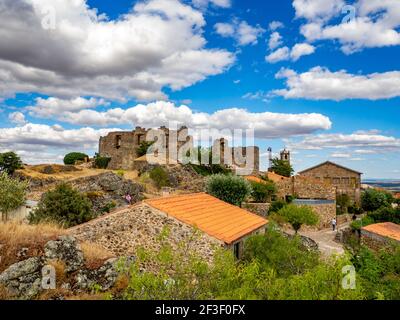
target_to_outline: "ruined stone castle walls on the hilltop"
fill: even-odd
[[[138,150],[143,142],[154,142],[154,151],[142,156]],[[213,143],[213,158],[231,169],[243,170],[243,174],[258,172],[260,168],[260,150],[256,146],[230,147],[225,139]],[[133,131],[110,132],[99,141],[99,155],[111,159],[111,170],[135,170],[144,163],[170,165],[179,163],[188,151],[194,150],[193,137],[187,127],[170,130],[161,127],[157,130],[136,127]],[[249,172],[250,171],[250,172]]]

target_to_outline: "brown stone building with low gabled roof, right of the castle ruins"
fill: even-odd
[[[347,194],[354,203],[360,204],[361,172],[327,161],[301,171],[299,175],[333,186],[337,194]]]

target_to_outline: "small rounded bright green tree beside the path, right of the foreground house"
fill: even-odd
[[[318,215],[312,208],[308,206],[296,206],[294,204],[289,204],[282,208],[276,215],[278,220],[282,219],[284,222],[289,223],[296,234],[303,224],[315,226],[319,221]]]

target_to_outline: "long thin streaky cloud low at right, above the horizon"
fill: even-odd
[[[301,141],[288,142],[297,150],[351,149],[358,154],[400,152],[400,139],[378,133],[331,133],[305,137]],[[337,152],[336,156],[346,153]]]

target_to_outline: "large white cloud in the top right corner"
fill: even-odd
[[[308,41],[338,41],[346,54],[400,45],[399,1],[358,0],[345,7],[342,0],[294,0],[293,6],[296,16],[307,20],[301,33]],[[331,23],[339,14],[343,15],[342,22]]]

